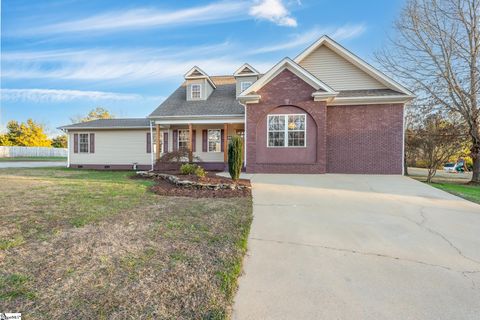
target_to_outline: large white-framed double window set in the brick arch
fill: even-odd
[[[305,114],[271,114],[267,121],[269,147],[305,147]]]

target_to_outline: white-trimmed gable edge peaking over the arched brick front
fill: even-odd
[[[322,93],[336,95],[337,92],[330,88],[327,84],[320,81],[312,74],[310,74],[307,70],[300,67],[290,58],[284,58],[282,61],[277,63],[273,68],[267,71],[259,80],[255,81],[247,90],[243,91],[239,98],[247,97],[252,93],[256,93],[259,89],[269,83],[272,79],[274,79],[280,72],[283,70],[288,69],[293,74],[301,78],[303,81],[311,85],[315,90],[318,90]]]

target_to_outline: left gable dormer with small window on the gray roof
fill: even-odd
[[[199,67],[195,66],[185,74],[186,100],[207,100],[216,89],[215,83]]]

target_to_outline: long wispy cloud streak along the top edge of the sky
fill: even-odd
[[[220,23],[246,19],[249,3],[244,1],[214,2],[173,11],[154,8],[139,8],[111,11],[91,17],[38,26],[24,31],[25,34],[62,34],[91,31],[116,31],[146,29],[178,25]]]

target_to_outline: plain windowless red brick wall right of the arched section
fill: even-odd
[[[329,106],[327,172],[402,174],[403,104]]]

